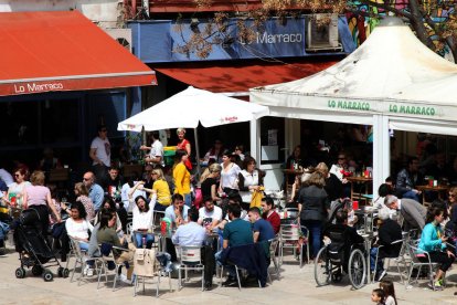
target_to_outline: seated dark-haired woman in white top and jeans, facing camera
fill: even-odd
[[[149,208],[146,198],[138,196],[134,204],[134,219],[131,230],[134,230],[135,242],[137,248],[146,246],[151,249],[153,235],[149,232],[152,227],[152,209]],[[144,244],[142,239],[146,240]]]

